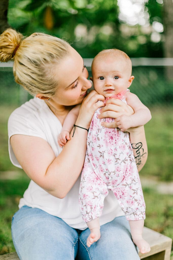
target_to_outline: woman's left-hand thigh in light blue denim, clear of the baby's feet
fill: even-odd
[[[12,218],[12,239],[20,260],[74,260],[77,230],[43,210],[23,206]]]

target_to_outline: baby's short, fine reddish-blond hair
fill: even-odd
[[[104,59],[107,57],[113,57],[113,58],[122,58],[123,61],[127,63],[128,68],[130,69],[130,75],[132,74],[132,62],[129,58],[129,56],[122,50],[119,49],[105,49],[100,51],[93,59],[92,64],[91,64],[91,70],[93,69],[94,63],[96,60],[99,59]]]

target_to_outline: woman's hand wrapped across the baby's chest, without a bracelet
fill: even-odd
[[[100,115],[99,118],[106,118],[106,117],[110,117],[110,118],[119,118],[121,115],[133,115],[134,114],[134,110],[132,107],[128,106],[126,103],[122,102],[119,99],[108,99],[106,101],[106,106],[103,107],[100,110]],[[102,122],[102,126],[104,127],[108,127],[108,128],[116,128],[117,123],[116,120],[115,122]]]

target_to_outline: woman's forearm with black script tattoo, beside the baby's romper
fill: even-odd
[[[137,169],[140,171],[148,157],[147,142],[143,126],[135,127],[133,131],[130,131],[130,142],[132,144]]]

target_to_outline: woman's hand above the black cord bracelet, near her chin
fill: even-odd
[[[100,101],[97,102],[98,100]],[[98,94],[95,90],[89,92],[80,107],[78,119],[76,120],[76,125],[84,128],[89,128],[94,112],[99,107],[105,106],[105,104],[103,103],[104,100],[105,97]]]

